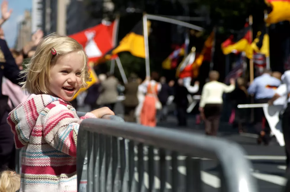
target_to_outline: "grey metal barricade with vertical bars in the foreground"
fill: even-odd
[[[178,174],[180,155],[186,167],[182,178]],[[250,174],[252,165],[244,155],[237,144],[219,138],[134,123],[85,119],[77,143],[78,191],[155,191],[154,183],[160,191],[168,191],[170,179],[172,192],[201,192],[198,157],[205,157],[220,163],[220,191],[256,192],[256,180]],[[144,178],[148,182],[144,183]]]

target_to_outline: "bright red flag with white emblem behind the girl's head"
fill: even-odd
[[[81,32],[70,35],[83,45],[88,60],[96,62],[113,48],[113,28],[115,22],[111,25],[103,25],[102,23],[94,27],[88,28]]]

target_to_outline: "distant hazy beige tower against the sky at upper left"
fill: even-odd
[[[31,40],[31,14],[25,10],[24,18],[18,23],[18,35],[15,42],[15,49],[21,50]]]

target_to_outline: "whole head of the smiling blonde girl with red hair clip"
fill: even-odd
[[[48,94],[70,101],[90,81],[87,56],[76,40],[55,33],[43,38],[27,69],[22,88],[29,94]]]

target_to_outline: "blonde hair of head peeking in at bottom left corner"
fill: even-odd
[[[3,171],[0,175],[0,192],[16,192],[20,189],[20,175],[14,171]]]

